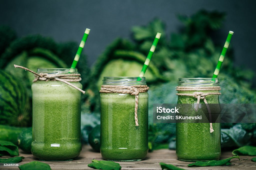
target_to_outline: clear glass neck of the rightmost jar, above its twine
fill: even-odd
[[[219,86],[218,78],[179,78],[178,86]]]

